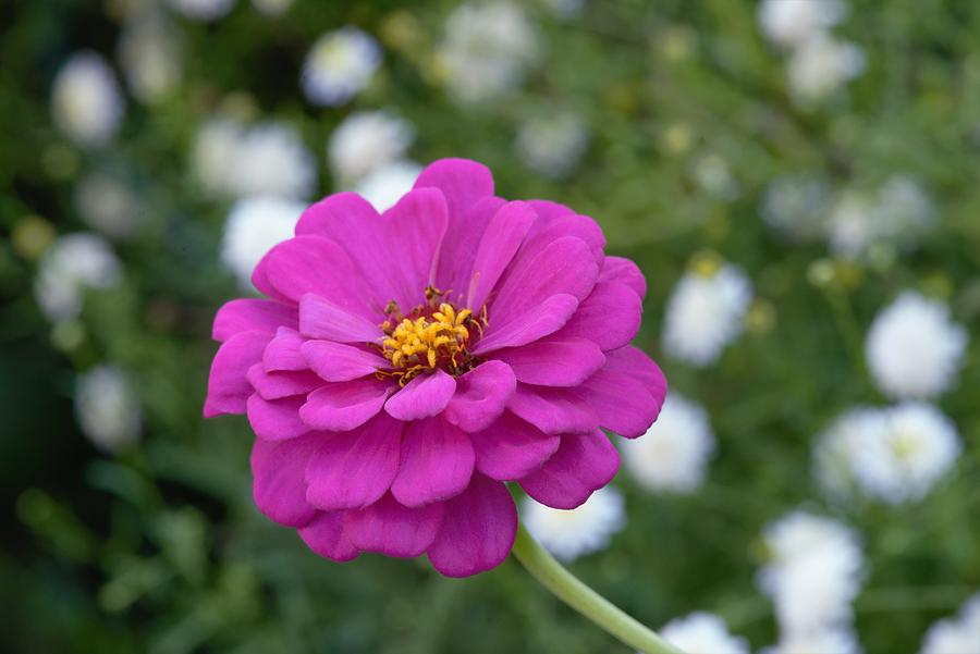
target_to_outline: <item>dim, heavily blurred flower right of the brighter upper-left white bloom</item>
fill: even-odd
[[[159,16],[136,18],[126,25],[119,41],[119,64],[133,95],[142,102],[156,102],[180,85],[180,45],[173,27]]]

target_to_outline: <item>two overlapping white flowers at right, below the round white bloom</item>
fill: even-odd
[[[817,440],[816,474],[836,498],[852,488],[887,504],[924,497],[956,462],[956,427],[935,407],[905,403],[844,414]]]

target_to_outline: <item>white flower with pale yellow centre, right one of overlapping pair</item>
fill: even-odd
[[[853,453],[855,480],[889,504],[921,499],[959,456],[956,427],[921,403],[886,409],[884,418]]]

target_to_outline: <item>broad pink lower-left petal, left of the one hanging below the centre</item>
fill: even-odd
[[[322,439],[306,467],[306,499],[322,510],[376,503],[399,471],[403,428],[381,414],[360,429]]]

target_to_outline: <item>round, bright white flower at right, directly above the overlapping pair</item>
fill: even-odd
[[[967,332],[945,304],[905,292],[871,323],[865,354],[885,395],[927,398],[954,383],[966,346]]]

